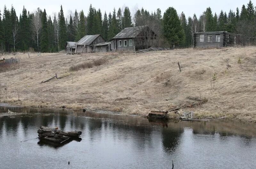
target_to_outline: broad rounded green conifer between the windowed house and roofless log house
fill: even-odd
[[[185,35],[181,26],[177,11],[173,7],[169,7],[163,16],[163,35],[173,45],[180,46],[184,43]]]

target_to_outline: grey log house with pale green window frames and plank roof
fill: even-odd
[[[127,27],[110,40],[111,50],[136,51],[146,49],[148,48],[148,38],[154,38],[154,36],[155,33],[149,32],[148,26]]]

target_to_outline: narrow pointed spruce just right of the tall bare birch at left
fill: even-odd
[[[42,13],[42,34],[41,34],[41,52],[49,51],[49,39],[48,39],[48,22],[46,17],[46,11]]]

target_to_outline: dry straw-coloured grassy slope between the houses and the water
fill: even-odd
[[[8,57],[13,56],[0,59]],[[151,110],[170,110],[190,102],[188,96],[193,96],[208,101],[179,112],[256,121],[255,47],[83,55],[43,53],[37,57],[30,54],[30,58],[19,53],[14,57],[20,63],[0,70],[1,102],[143,115]],[[58,80],[40,83],[55,73]]]

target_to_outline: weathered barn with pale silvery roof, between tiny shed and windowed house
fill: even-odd
[[[85,35],[82,39],[76,42],[76,53],[94,52],[95,44],[107,42],[101,35]]]

